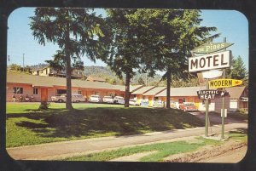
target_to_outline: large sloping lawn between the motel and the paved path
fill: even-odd
[[[51,103],[38,111],[39,103],[7,103],[7,147],[35,145],[61,140],[121,136],[202,127],[204,123],[175,109],[123,105]]]

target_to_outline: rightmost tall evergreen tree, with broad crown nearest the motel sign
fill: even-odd
[[[199,10],[138,9],[128,16],[137,30],[137,52],[143,71],[154,75],[166,71],[166,107],[170,108],[170,88],[173,78],[189,76],[188,57],[196,46],[218,37],[211,36],[216,27],[200,26]]]

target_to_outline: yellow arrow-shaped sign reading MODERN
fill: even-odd
[[[209,81],[210,88],[230,88],[241,85],[241,80],[235,79],[216,79]]]

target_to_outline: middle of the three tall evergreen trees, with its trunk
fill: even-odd
[[[125,75],[125,107],[129,107],[131,78],[140,67],[136,47],[136,30],[130,25],[127,15],[135,9],[108,9],[108,29],[112,33],[112,43],[108,44],[108,56],[103,56],[112,71],[122,80]]]

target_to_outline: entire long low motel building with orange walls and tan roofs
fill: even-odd
[[[48,100],[51,96],[66,94],[66,78],[63,77],[45,77],[34,76],[20,73],[7,73],[7,101],[12,101],[12,96],[18,98],[22,96],[34,97],[34,101]],[[171,102],[179,108],[183,102],[193,102],[199,111],[205,111],[206,106],[203,100],[200,100],[197,91],[206,89],[202,87],[183,87],[171,88]],[[228,111],[243,110],[248,108],[248,91],[245,87],[226,88],[229,95],[225,97],[225,108]],[[124,85],[112,85],[110,83],[84,81],[72,79],[72,93],[82,94],[84,98],[90,97],[91,94],[98,94],[101,97],[105,95],[125,97]],[[137,100],[141,104],[142,100],[147,101],[148,106],[154,106],[155,100],[161,100],[166,103],[166,87],[131,85],[131,99]],[[209,111],[220,112],[222,108],[222,98],[209,100]]]

